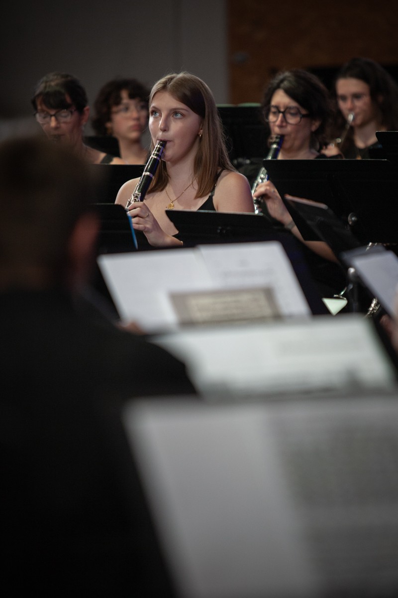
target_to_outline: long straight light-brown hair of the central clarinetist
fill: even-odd
[[[167,91],[202,118],[202,137],[193,172],[198,180],[196,197],[203,197],[214,188],[217,172],[235,170],[226,149],[223,125],[213,94],[204,81],[186,71],[166,75],[157,81],[150,92],[149,106],[158,91]],[[167,183],[166,164],[162,161],[149,188],[150,193],[162,191]]]

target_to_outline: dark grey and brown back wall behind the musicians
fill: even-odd
[[[218,103],[258,102],[281,68],[356,55],[394,68],[397,35],[396,0],[9,0],[0,21],[0,138],[36,127],[30,96],[50,71],[79,77],[90,103],[115,75],[151,86],[181,69],[202,77]]]

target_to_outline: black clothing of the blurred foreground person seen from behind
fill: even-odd
[[[120,413],[192,394],[184,365],[60,291],[0,295],[0,314],[7,596],[172,596]]]

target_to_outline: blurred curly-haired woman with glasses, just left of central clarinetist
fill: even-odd
[[[149,90],[136,79],[118,78],[101,87],[94,102],[92,128],[118,139],[125,164],[144,164],[143,133],[148,126]]]

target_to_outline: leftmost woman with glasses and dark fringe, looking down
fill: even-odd
[[[90,115],[87,94],[76,77],[52,72],[36,86],[32,97],[35,118],[51,141],[69,144],[92,164],[124,164],[121,158],[88,147],[84,126]]]

